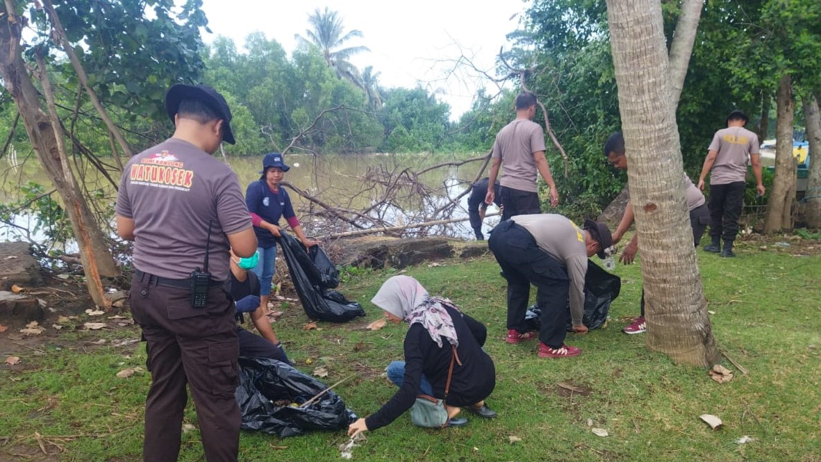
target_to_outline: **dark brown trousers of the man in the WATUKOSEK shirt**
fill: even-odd
[[[209,289],[208,304],[190,306],[190,289],[158,286],[143,274],[131,281],[131,315],[140,324],[148,352],[151,387],[145,400],[143,460],[176,462],[188,395],[197,409],[205,459],[236,462],[240,408],[236,321],[231,296]]]

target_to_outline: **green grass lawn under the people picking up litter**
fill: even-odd
[[[464,428],[431,430],[413,427],[403,415],[368,432],[354,460],[821,460],[821,259],[772,245],[759,251],[758,245],[741,242],[738,258],[699,250],[718,345],[749,371],[743,375],[725,361],[735,378],[722,385],[704,369],[650,352],[644,335],[621,333],[626,318],[638,314],[638,264],[616,270],[623,286],[608,327],[568,336],[568,344],[584,350],[576,359],[539,359],[534,343],[502,341],[506,286],[493,257],[408,268],[406,274],[431,293],[451,298],[488,325],[486,350],[497,368],[488,405],[499,417],[468,414]],[[344,325],[320,322],[321,330],[304,331],[308,319],[291,304],[274,325],[301,370],[326,366],[328,384],[353,375],[337,392],[361,416],[392,396],[394,389],[380,374],[402,356],[406,325],[364,329],[382,316],[369,300],[393,273],[349,275],[341,290],[363,304],[366,318]],[[144,346],[83,347],[99,335],[67,332],[56,341],[61,349],[44,345],[44,355],[26,357],[28,368],[0,371],[0,441],[37,447],[37,432],[49,451],[57,451],[52,443],[62,446],[60,460],[140,460],[149,375],[122,379],[115,373],[144,367]],[[139,332],[129,327],[107,335]],[[571,395],[558,382],[585,387],[589,395]],[[724,424],[713,431],[700,414],[715,414]],[[192,405],[186,423],[196,423]],[[607,429],[609,437],[594,435],[588,423]],[[745,435],[754,441],[736,444]],[[180,460],[204,460],[199,437],[198,430],[183,436]],[[337,461],[337,445],[346,439],[341,431],[286,439],[243,432],[241,460]]]

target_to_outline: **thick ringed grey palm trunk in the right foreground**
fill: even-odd
[[[647,346],[708,367],[719,353],[684,197],[661,4],[608,0],[608,23],[648,302]]]

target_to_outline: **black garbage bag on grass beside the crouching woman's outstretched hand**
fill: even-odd
[[[268,358],[241,356],[240,386],[236,403],[242,415],[241,428],[293,437],[313,430],[342,430],[356,414],[333,390],[290,365]],[[309,405],[302,403],[325,391]],[[293,405],[296,403],[296,406]]]

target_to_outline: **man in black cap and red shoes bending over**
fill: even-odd
[[[539,358],[578,356],[581,350],[564,344],[567,300],[573,332],[585,333],[587,258],[606,258],[612,246],[603,223],[585,220],[582,227],[562,215],[516,215],[490,232],[488,246],[507,279],[507,343],[536,337],[527,331],[525,313],[530,284],[536,286],[539,318]]]

